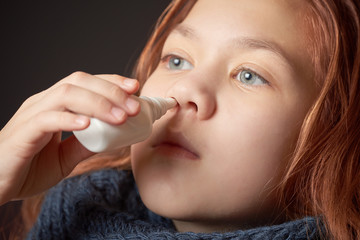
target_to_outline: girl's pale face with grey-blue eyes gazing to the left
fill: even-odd
[[[179,105],[132,146],[145,205],[179,231],[273,220],[284,166],[318,93],[305,1],[199,0],[167,38],[142,95]]]

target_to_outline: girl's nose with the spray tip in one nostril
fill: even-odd
[[[179,111],[193,114],[199,120],[211,118],[216,110],[215,87],[201,76],[176,80],[168,89],[167,96],[178,101]]]

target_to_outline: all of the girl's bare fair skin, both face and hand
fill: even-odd
[[[178,106],[132,146],[144,203],[179,231],[276,220],[274,187],[318,88],[302,0],[199,0],[164,45],[143,95]],[[211,14],[210,14],[211,13]],[[61,131],[121,124],[137,81],[74,73],[30,97],[0,132],[0,204],[53,186],[93,153]]]

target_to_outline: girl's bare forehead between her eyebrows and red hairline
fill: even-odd
[[[306,0],[198,0],[171,35],[204,47],[224,48],[234,39],[276,46],[297,71],[309,71]]]

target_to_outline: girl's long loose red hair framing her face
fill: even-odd
[[[297,147],[278,188],[289,219],[321,216],[327,235],[360,239],[360,29],[358,0],[308,0],[309,51],[322,90],[304,120]],[[171,30],[196,0],[174,0],[161,15],[139,57],[134,76],[141,84],[160,61]],[[123,168],[129,149],[120,156],[97,155],[73,174],[104,167]],[[28,230],[42,197],[25,200]],[[35,202],[35,203],[34,203]]]

